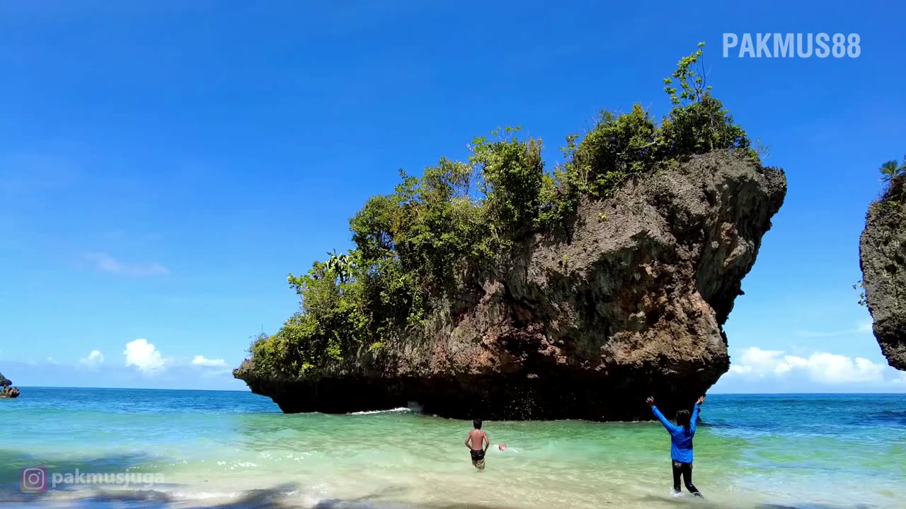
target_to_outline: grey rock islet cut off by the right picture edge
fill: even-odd
[[[882,197],[865,216],[859,245],[864,303],[891,366],[906,370],[906,158],[881,167]]]

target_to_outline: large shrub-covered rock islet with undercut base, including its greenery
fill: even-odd
[[[701,50],[659,121],[603,112],[564,162],[518,129],[371,197],[354,247],[289,283],[302,305],[234,371],[284,412],[418,403],[448,418],[633,420],[729,368],[723,324],[786,176],[710,91]]]

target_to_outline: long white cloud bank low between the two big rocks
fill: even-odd
[[[852,359],[818,351],[805,358],[757,347],[744,351],[740,362],[730,366],[731,373],[741,376],[764,378],[803,373],[814,382],[826,384],[882,382],[885,370],[886,365],[862,357]]]

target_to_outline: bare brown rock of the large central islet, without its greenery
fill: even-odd
[[[585,201],[424,331],[306,379],[234,372],[285,412],[418,403],[450,418],[629,420],[689,407],[728,370],[722,325],[783,203],[782,170],[692,158]]]

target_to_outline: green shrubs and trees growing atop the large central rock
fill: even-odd
[[[255,370],[296,376],[417,335],[410,328],[436,303],[506,272],[520,241],[568,230],[583,196],[610,197],[631,178],[711,150],[757,158],[705,83],[701,45],[665,80],[672,109],[660,125],[639,104],[604,111],[583,138],[567,137],[565,162],[550,172],[541,140],[519,128],[474,139],[467,161],[441,158],[421,178],[401,172],[392,194],[371,197],[350,220],[348,255],[289,275],[301,309],[253,342]]]

